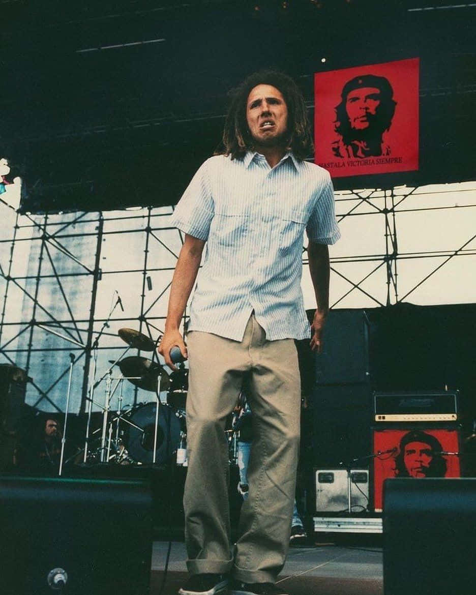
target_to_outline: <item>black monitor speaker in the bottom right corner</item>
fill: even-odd
[[[473,595],[476,478],[384,482],[384,595]]]

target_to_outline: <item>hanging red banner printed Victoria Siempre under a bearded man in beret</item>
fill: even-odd
[[[418,170],[419,60],[315,73],[315,163],[332,177]]]

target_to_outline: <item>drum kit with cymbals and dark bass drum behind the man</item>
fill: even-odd
[[[186,456],[186,400],[188,369],[181,362],[171,374],[154,361],[157,342],[132,328],[120,328],[118,336],[127,343],[126,351],[117,360],[109,360],[108,371],[89,389],[89,411],[83,463],[112,465],[163,465],[174,460],[187,466]],[[152,352],[152,359],[127,356],[129,349]],[[120,374],[115,375],[118,368]],[[95,390],[105,381],[104,404],[96,402]],[[154,393],[154,399],[123,408],[123,383],[130,382],[138,389]],[[164,402],[159,393],[167,392]],[[111,401],[118,392],[118,406],[112,411]],[[90,433],[92,405],[102,409],[102,428]],[[230,462],[237,459],[237,432],[231,425],[226,429]],[[98,439],[95,434],[101,432]],[[98,445],[99,441],[99,445]]]

